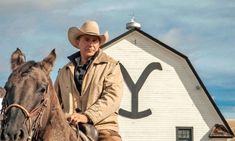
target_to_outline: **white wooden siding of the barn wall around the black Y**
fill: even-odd
[[[136,82],[152,62],[163,70],[154,70],[139,92],[139,111],[151,109],[142,119],[119,117],[123,141],[175,141],[176,127],[193,127],[194,141],[209,139],[214,124],[223,124],[184,58],[139,34],[131,34],[104,50],[119,60]],[[121,108],[130,111],[131,93],[124,86]]]

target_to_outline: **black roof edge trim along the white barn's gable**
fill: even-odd
[[[133,32],[138,32],[140,34],[142,34],[143,36],[151,39],[152,41],[156,42],[157,44],[160,44],[161,47],[164,47],[168,50],[170,50],[171,52],[179,55],[180,57],[184,58],[186,60],[186,62],[188,63],[190,69],[192,70],[192,72],[194,73],[194,75],[196,76],[198,82],[200,83],[202,89],[204,90],[204,92],[206,93],[208,99],[210,100],[211,104],[213,105],[213,107],[215,108],[216,112],[218,113],[218,115],[220,116],[221,120],[223,121],[224,125],[226,126],[226,129],[228,130],[228,134],[227,136],[224,136],[225,138],[226,137],[233,137],[234,134],[230,128],[230,126],[228,125],[227,121],[225,120],[224,116],[222,115],[222,113],[220,112],[219,108],[217,107],[216,103],[214,102],[214,100],[212,99],[211,95],[209,94],[208,90],[206,89],[205,85],[203,84],[202,80],[200,79],[199,75],[197,74],[196,70],[194,69],[192,63],[190,62],[190,60],[188,59],[188,57],[186,55],[184,55],[183,53],[175,50],[174,48],[168,46],[167,44],[161,42],[160,40],[154,38],[153,36],[147,34],[146,32],[142,31],[141,29],[137,29],[137,28],[133,28],[131,30],[128,30],[127,32],[119,35],[118,37],[112,39],[111,41],[105,43],[101,48],[106,48],[108,47],[109,45],[111,45],[112,43],[118,41],[119,39],[121,38],[124,38],[125,36],[133,33]]]

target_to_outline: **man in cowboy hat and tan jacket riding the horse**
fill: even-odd
[[[80,51],[68,57],[55,82],[62,109],[73,124],[94,124],[99,141],[121,141],[117,118],[123,78],[119,63],[100,49],[108,33],[101,35],[95,21],[86,21],[71,27],[68,39]]]

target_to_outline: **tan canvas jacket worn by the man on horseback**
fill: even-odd
[[[117,117],[123,94],[119,63],[100,50],[83,78],[81,94],[76,89],[74,68],[72,62],[65,65],[55,81],[64,112],[71,114],[79,108],[98,130],[118,131]]]

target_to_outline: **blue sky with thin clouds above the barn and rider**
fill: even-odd
[[[77,51],[67,39],[71,26],[96,20],[113,39],[134,16],[141,30],[186,55],[226,119],[235,119],[234,0],[0,0],[0,86],[20,48],[40,61],[56,49],[51,73]]]

